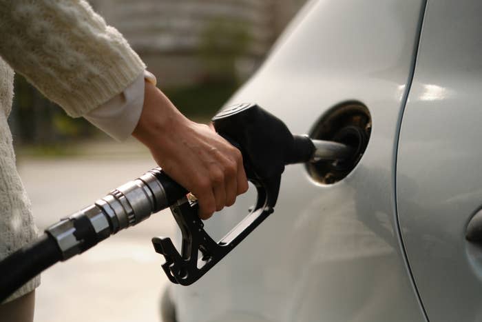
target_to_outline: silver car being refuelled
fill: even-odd
[[[293,133],[364,136],[359,158],[289,165],[275,212],[164,311],[179,322],[481,321],[482,2],[309,1],[227,102]],[[206,222],[222,237],[254,194]],[[166,300],[167,299],[167,300]],[[175,312],[174,312],[175,311]]]

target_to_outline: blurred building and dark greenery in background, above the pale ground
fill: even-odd
[[[158,78],[158,87],[171,101],[188,117],[206,121],[260,66],[286,23],[305,1],[90,3],[140,54],[148,70]],[[15,79],[10,127],[17,145],[42,146],[50,152],[55,152],[56,143],[103,136],[87,121],[67,117],[19,75]]]

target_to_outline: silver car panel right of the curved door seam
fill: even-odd
[[[430,321],[482,321],[482,248],[465,228],[482,205],[482,2],[429,1],[401,123],[397,203]]]

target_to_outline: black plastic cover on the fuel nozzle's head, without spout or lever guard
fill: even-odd
[[[242,103],[213,117],[216,132],[240,149],[248,180],[264,185],[267,205],[274,207],[284,166],[311,159],[315,145],[291,134],[273,114],[254,103]]]

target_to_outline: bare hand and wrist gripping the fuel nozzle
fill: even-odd
[[[240,151],[208,125],[187,119],[149,82],[132,135],[149,148],[169,177],[198,198],[201,219],[232,205],[248,190]]]

